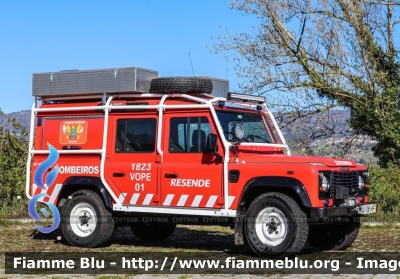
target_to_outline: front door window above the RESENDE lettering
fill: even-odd
[[[171,153],[203,152],[210,133],[207,117],[172,118],[168,150]]]

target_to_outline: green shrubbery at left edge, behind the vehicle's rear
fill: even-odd
[[[0,115],[3,114],[0,110]],[[9,216],[7,210],[17,210],[19,207],[23,208],[24,212],[27,211],[26,202],[16,202],[18,196],[25,197],[27,151],[28,131],[15,118],[7,117],[0,120],[0,209],[2,214]]]

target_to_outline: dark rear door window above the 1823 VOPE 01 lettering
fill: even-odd
[[[115,152],[154,152],[156,120],[154,118],[119,119]]]

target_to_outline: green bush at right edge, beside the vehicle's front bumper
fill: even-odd
[[[379,221],[400,221],[400,169],[369,169],[370,198],[377,203]]]

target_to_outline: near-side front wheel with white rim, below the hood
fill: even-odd
[[[307,241],[307,216],[291,197],[264,193],[249,206],[245,235],[259,256],[281,258],[297,254]]]

